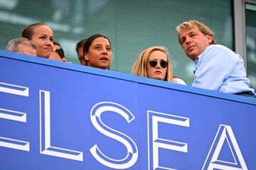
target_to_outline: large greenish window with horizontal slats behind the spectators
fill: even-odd
[[[193,81],[194,63],[178,43],[176,26],[183,21],[203,21],[215,32],[219,44],[233,49],[231,0],[45,0],[0,1],[0,49],[21,36],[31,23],[45,22],[54,31],[70,62],[78,64],[75,45],[101,33],[112,42],[111,70],[131,73],[146,47],[169,49],[174,75]]]

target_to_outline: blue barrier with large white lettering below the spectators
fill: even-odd
[[[0,51],[0,169],[256,169],[256,100]]]

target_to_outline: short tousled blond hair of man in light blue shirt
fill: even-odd
[[[201,33],[205,34],[205,35],[212,35],[213,40],[212,42],[210,42],[210,44],[216,44],[216,40],[214,38],[214,33],[213,30],[211,30],[208,26],[204,25],[203,23],[196,21],[196,20],[190,20],[190,21],[186,21],[183,22],[181,24],[179,24],[178,26],[176,26],[176,30],[178,32],[178,42],[181,44],[181,30],[183,29],[192,29],[195,26],[198,27],[198,29],[201,31]]]

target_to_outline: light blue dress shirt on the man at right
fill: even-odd
[[[223,45],[210,45],[195,60],[196,71],[192,86],[201,89],[237,94],[250,91],[242,57]]]

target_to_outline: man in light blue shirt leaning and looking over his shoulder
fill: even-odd
[[[256,98],[242,57],[228,47],[215,45],[214,33],[208,26],[186,21],[176,30],[184,52],[196,64],[192,86]]]

